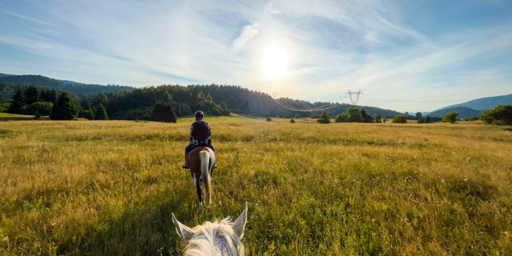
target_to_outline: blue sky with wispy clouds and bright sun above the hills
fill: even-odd
[[[397,111],[512,93],[512,1],[0,1],[0,73]]]

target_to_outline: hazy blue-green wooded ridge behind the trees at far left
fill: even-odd
[[[129,86],[99,84],[85,84],[68,80],[57,80],[41,75],[0,75],[0,84],[15,86],[26,84],[35,87],[55,88],[55,90],[68,91],[74,94],[96,94],[115,91],[132,91],[135,88]],[[4,96],[3,96],[4,97]]]

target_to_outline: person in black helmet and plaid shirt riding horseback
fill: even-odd
[[[185,164],[183,168],[188,169],[187,157],[188,153],[198,146],[207,146],[215,153],[214,145],[211,144],[211,129],[207,122],[203,121],[204,113],[196,112],[196,121],[190,126],[190,144],[185,147]],[[217,168],[217,164],[214,165]]]

